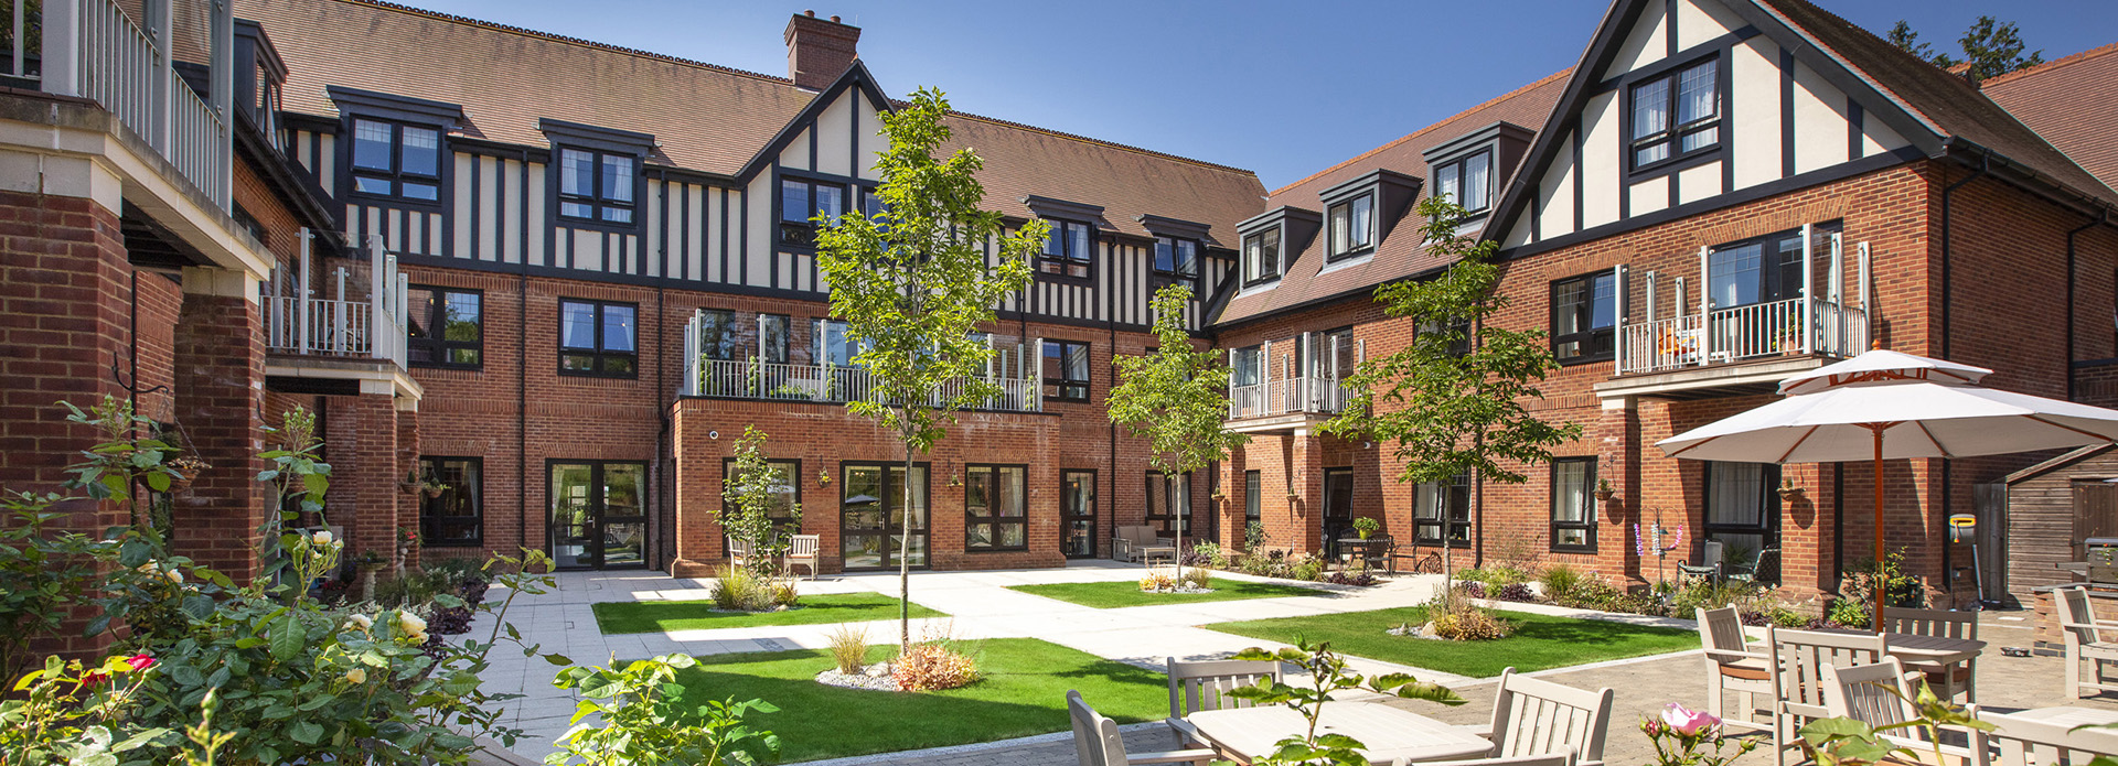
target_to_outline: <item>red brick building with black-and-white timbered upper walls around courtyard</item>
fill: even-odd
[[[0,144],[0,478],[51,480],[83,442],[47,400],[133,385],[214,463],[172,501],[191,508],[184,544],[231,565],[250,548],[222,531],[263,504],[256,425],[303,404],[335,463],[330,523],[385,554],[707,571],[724,461],[758,425],[826,571],[894,567],[911,482],[915,563],[945,569],[1063,565],[1108,554],[1116,525],[1180,516],[1231,546],[1260,523],[1269,546],[1324,550],[1372,516],[1404,567],[1455,544],[1461,565],[1637,584],[1658,561],[1631,527],[1661,518],[1686,527],[1673,559],[1705,540],[1771,550],[1809,597],[1866,550],[1868,468],[1673,461],[1654,440],[1870,345],[2086,400],[2118,358],[2107,121],[2069,118],[2033,72],[1980,91],[1805,0],[1618,0],[1578,66],[1271,193],[957,114],[987,205],[1055,237],[989,328],[1010,394],[904,476],[900,446],[843,408],[866,377],[807,224],[864,209],[877,182],[892,102],[858,28],[792,17],[788,74],[769,76],[383,2],[193,17],[169,21],[182,76],[165,80],[191,89],[165,99],[174,116],[100,108],[121,99],[83,85],[108,78],[83,78],[78,51],[28,55],[40,74],[0,93],[0,121],[64,138]],[[2048,70],[2110,83],[2069,61]],[[235,116],[222,154],[199,154],[184,108],[214,93]],[[1436,193],[1502,245],[1495,322],[1552,334],[1563,368],[1536,406],[1584,425],[1525,485],[1404,487],[1389,444],[1315,432],[1356,364],[1417,332],[1370,294],[1447,267],[1406,220]],[[1199,476],[1148,472],[1101,406],[1112,355],[1154,343],[1148,296],[1169,281],[1197,288],[1190,322],[1228,351],[1231,423],[1254,436]],[[104,375],[112,353],[140,372]],[[1970,599],[1942,518],[1987,514],[1997,542],[1976,487],[2044,457],[1891,466],[1891,544]]]

